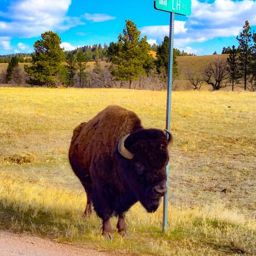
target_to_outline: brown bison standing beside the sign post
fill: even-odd
[[[69,161],[87,195],[84,215],[89,217],[93,204],[107,239],[113,239],[111,217],[118,216],[118,232],[128,236],[126,211],[139,201],[154,212],[166,194],[173,144],[167,133],[169,139],[161,130],[144,129],[134,112],[120,106],[108,106],[74,129]]]

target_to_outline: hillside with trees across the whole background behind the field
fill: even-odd
[[[167,87],[169,37],[150,46],[147,36],[126,20],[117,43],[61,48],[57,33],[45,32],[35,52],[2,56],[0,83],[48,87],[130,88],[163,90]],[[173,50],[173,90],[210,89],[256,91],[256,33],[248,21],[237,35],[239,46],[223,47],[221,55],[195,56]],[[28,55],[28,54],[27,54]],[[32,62],[20,69],[24,60]],[[16,65],[20,63],[19,67]],[[7,67],[4,69],[4,67]]]

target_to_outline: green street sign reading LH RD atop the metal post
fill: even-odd
[[[154,7],[160,11],[189,16],[191,14],[191,0],[154,0]]]

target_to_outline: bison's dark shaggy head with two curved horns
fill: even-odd
[[[163,131],[143,129],[126,135],[118,145],[122,158],[122,175],[137,200],[148,212],[154,212],[167,191],[166,165],[168,147],[173,144]]]

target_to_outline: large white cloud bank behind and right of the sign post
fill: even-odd
[[[243,29],[245,20],[256,25],[256,2],[253,0],[232,1],[215,0],[199,2],[192,0],[192,13],[187,21],[175,20],[174,47],[181,48],[189,43],[204,42],[217,37],[236,36]],[[141,31],[161,43],[165,35],[169,36],[169,25],[147,26]]]

